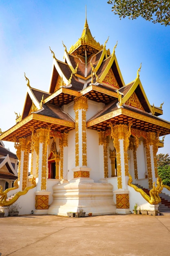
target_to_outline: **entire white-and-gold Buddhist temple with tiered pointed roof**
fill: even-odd
[[[160,118],[163,104],[150,105],[141,65],[124,83],[117,43],[110,53],[106,39],[98,43],[85,19],[77,42],[69,50],[63,43],[64,61],[49,49],[49,92],[33,88],[25,74],[22,115],[0,135],[15,143],[19,160],[18,186],[1,191],[2,207],[18,202],[20,214],[127,214],[135,203],[157,211],[159,194],[169,193],[157,173],[159,137],[170,134],[170,122]]]

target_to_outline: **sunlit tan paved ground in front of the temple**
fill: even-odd
[[[0,218],[0,256],[169,256],[170,216]]]

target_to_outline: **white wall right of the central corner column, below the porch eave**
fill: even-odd
[[[87,167],[91,168],[90,178],[94,182],[98,182],[101,178],[99,172],[99,135],[96,130],[91,129],[87,129]]]

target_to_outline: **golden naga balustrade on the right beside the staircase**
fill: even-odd
[[[153,183],[153,188],[150,189],[149,195],[146,194],[146,192],[143,191],[143,189],[139,189],[137,186],[132,184],[132,177],[129,174],[129,180],[128,185],[131,186],[135,191],[139,192],[142,197],[150,204],[159,204],[161,202],[161,198],[159,197],[159,194],[161,193],[163,189],[163,183],[161,178],[158,176],[157,178],[157,186],[155,187],[155,182]]]

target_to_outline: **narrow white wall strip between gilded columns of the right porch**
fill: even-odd
[[[138,173],[138,180],[145,179],[145,172],[146,172],[146,158],[144,154],[144,144],[143,140],[139,144],[137,148],[137,173]]]

